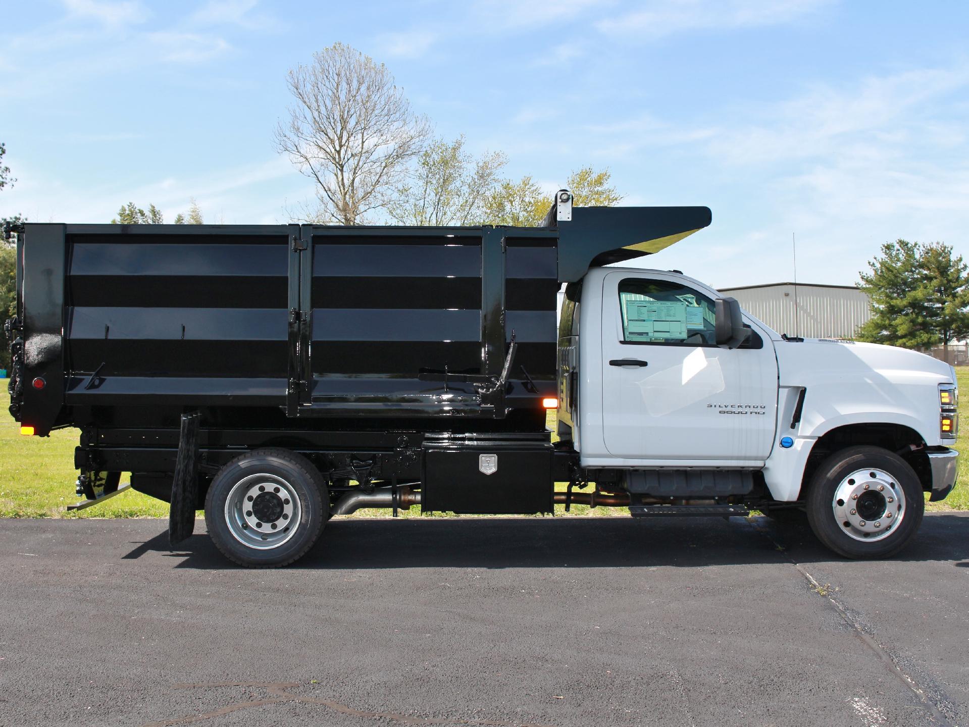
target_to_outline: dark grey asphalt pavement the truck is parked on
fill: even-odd
[[[230,566],[0,521],[0,725],[969,725],[969,514],[889,561],[766,519],[328,523]]]

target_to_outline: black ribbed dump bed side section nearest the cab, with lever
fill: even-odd
[[[504,408],[524,408],[531,427],[544,427],[556,239],[541,229],[313,228],[312,395],[300,416],[502,419]],[[474,382],[428,377],[497,378],[513,330],[518,353],[501,407],[483,407]]]

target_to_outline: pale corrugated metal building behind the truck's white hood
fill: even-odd
[[[774,331],[788,335],[854,338],[871,318],[871,300],[850,285],[768,283],[718,290]]]

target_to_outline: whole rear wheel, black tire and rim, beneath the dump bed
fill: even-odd
[[[260,484],[264,481],[265,485]],[[274,485],[275,492],[281,491],[276,495],[278,503],[269,497],[273,494]],[[252,510],[246,511],[249,516],[246,518],[236,512],[239,502],[245,506],[244,500],[239,498],[244,496],[244,491],[249,491],[246,490],[249,487],[268,490],[266,496],[270,502],[268,505],[263,503],[264,512],[268,513],[266,522],[258,523],[261,528],[266,525],[265,531],[257,531],[249,526]],[[291,497],[287,497],[287,494],[292,496],[294,504],[291,504]],[[232,522],[227,520],[226,508],[230,495],[234,506],[230,508],[232,515],[228,517],[236,516]],[[257,498],[262,496],[262,492],[256,494]],[[251,497],[247,499],[252,501]],[[283,502],[293,512],[292,520],[280,520],[281,517],[289,518],[283,513]],[[257,500],[256,505],[259,504]],[[253,510],[256,508],[251,507]],[[250,568],[278,568],[305,555],[320,539],[328,513],[327,484],[319,470],[307,458],[284,449],[253,450],[234,458],[219,470],[205,496],[205,525],[215,546],[234,563]],[[256,515],[251,519],[262,520],[258,517],[259,513]],[[269,526],[272,531],[268,529]],[[234,533],[238,533],[238,536]],[[271,541],[264,545],[258,540],[277,537],[287,539],[279,545],[272,545]]]

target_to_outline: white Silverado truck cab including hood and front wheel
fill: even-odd
[[[763,488],[768,512],[806,510],[838,553],[894,553],[922,491],[954,486],[956,396],[948,364],[788,338],[678,271],[594,268],[566,289],[559,434],[590,481],[643,503]]]

